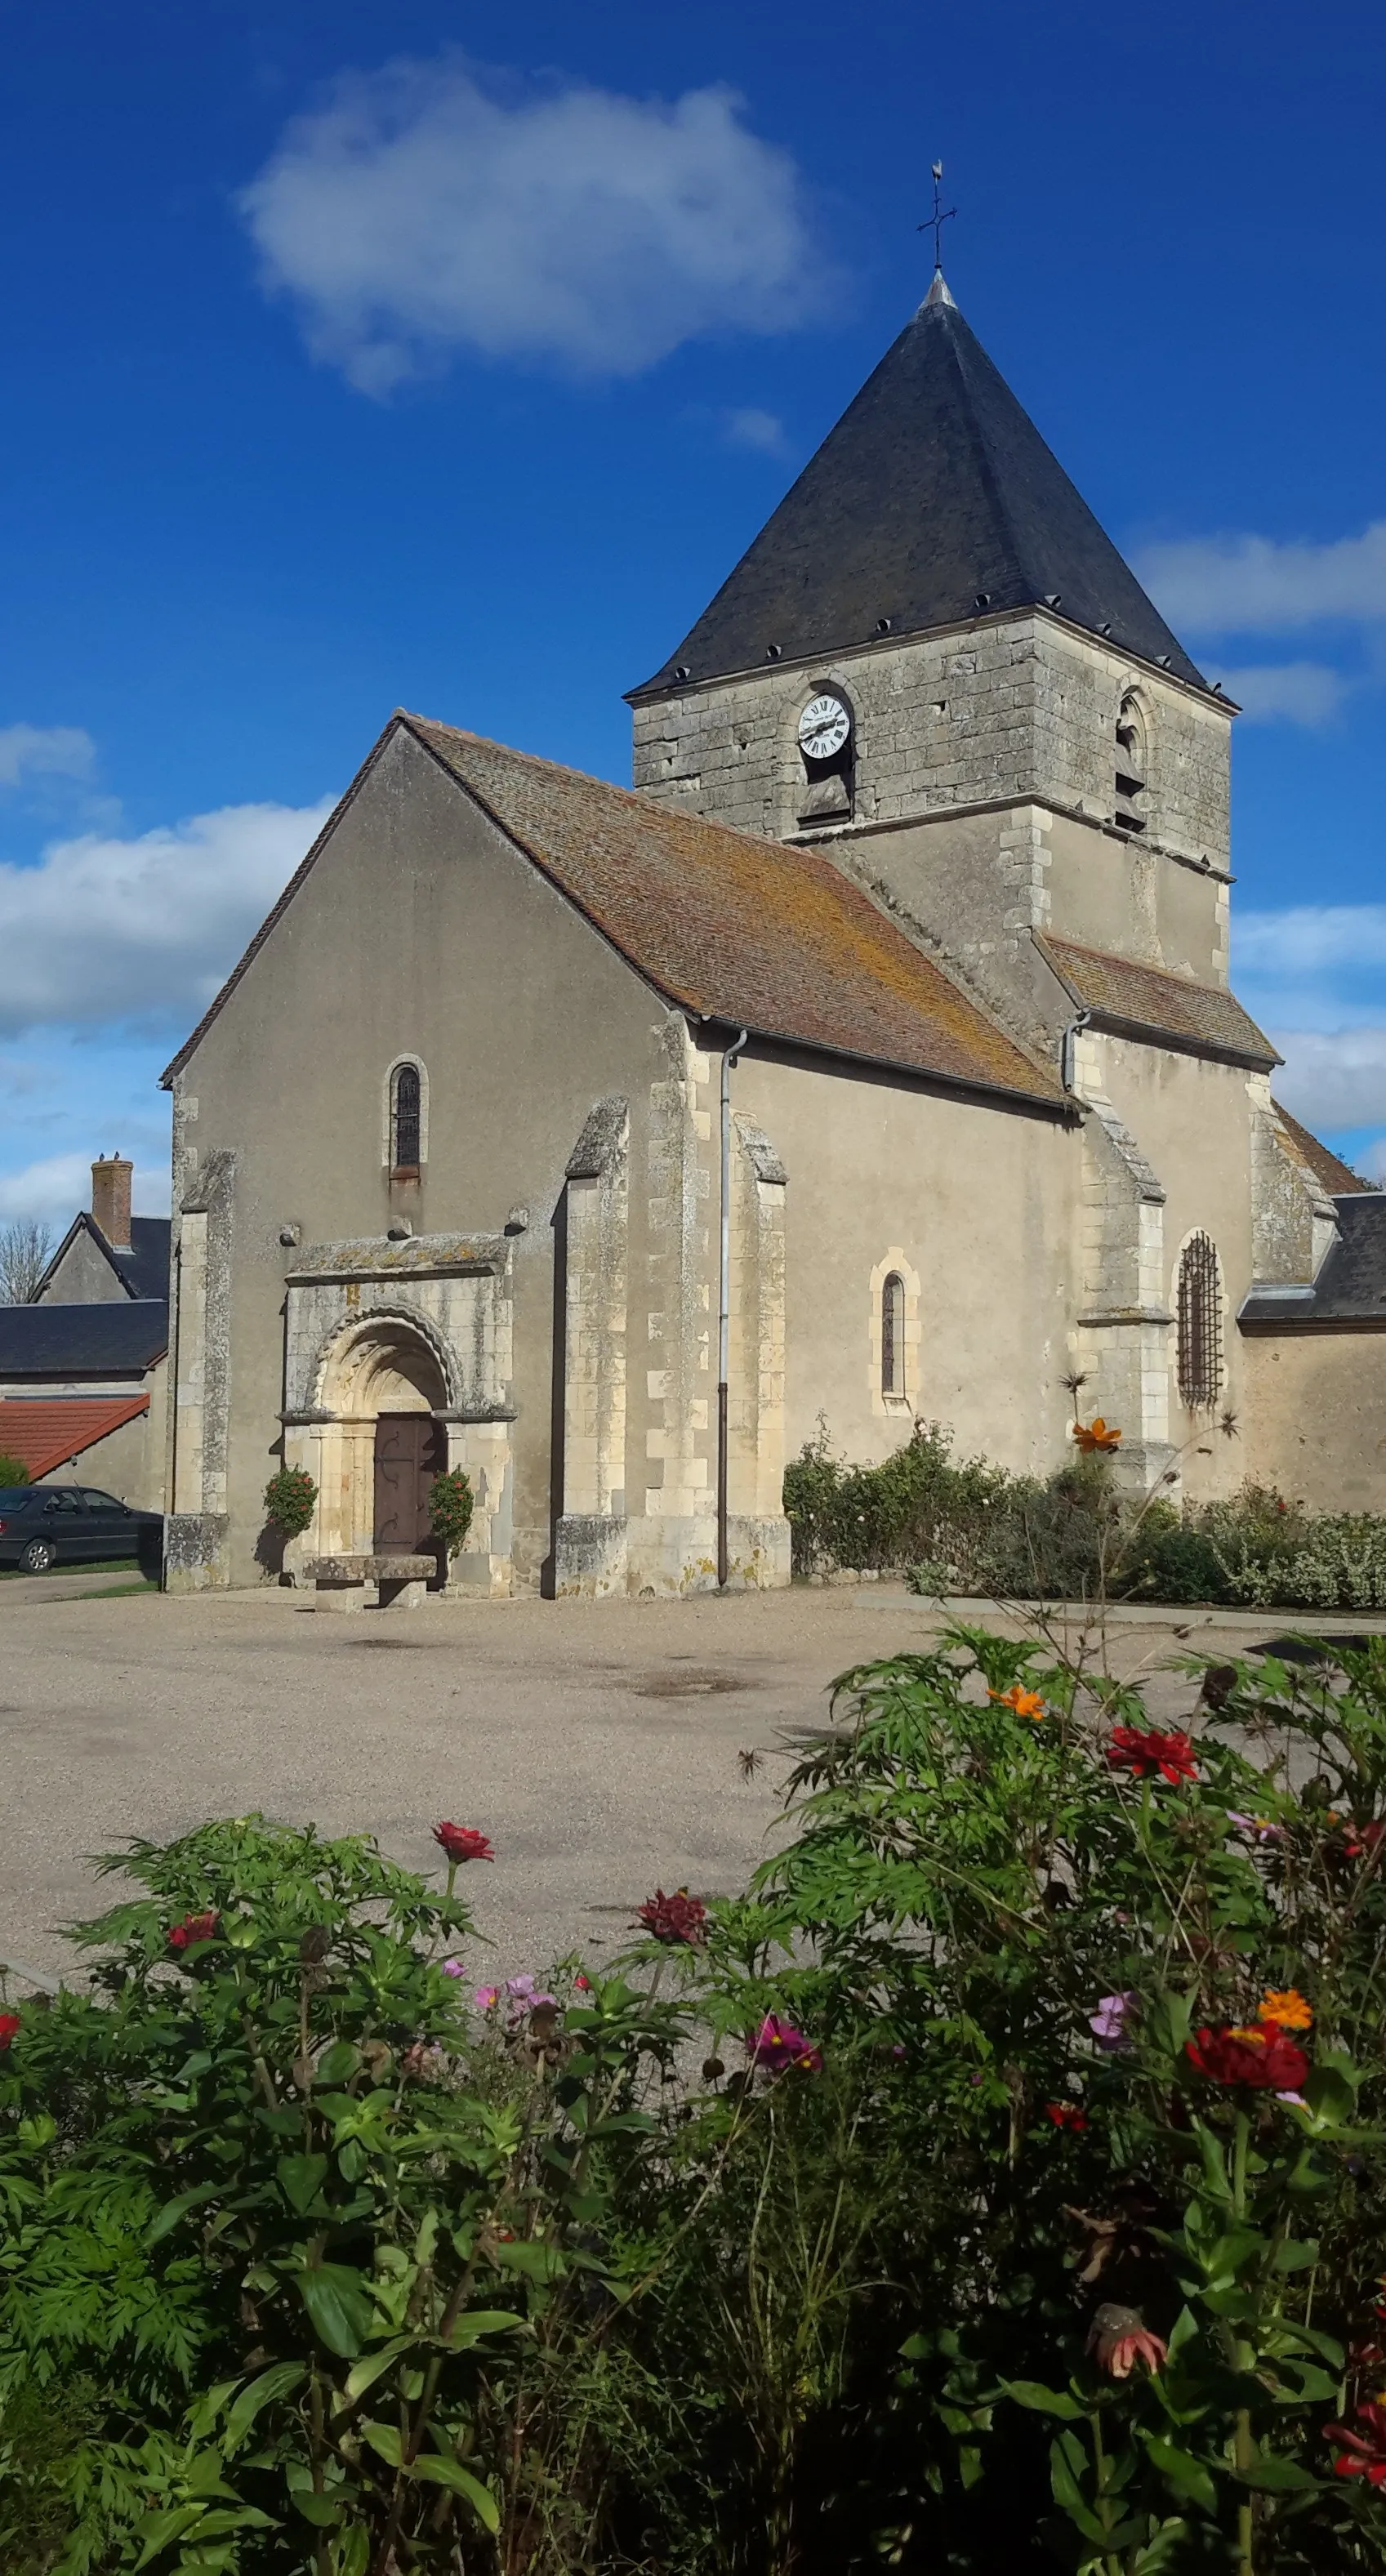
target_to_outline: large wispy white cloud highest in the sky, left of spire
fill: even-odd
[[[824,291],[799,170],[724,88],[492,95],[456,52],[348,72],[240,211],[314,355],[368,394],[459,348],[634,376]]]

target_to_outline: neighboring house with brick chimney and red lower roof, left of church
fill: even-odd
[[[95,1484],[162,1507],[167,1236],[129,1213],[131,1164],[93,1164],[75,1218],[28,1306],[0,1306],[0,1450],[33,1481]]]

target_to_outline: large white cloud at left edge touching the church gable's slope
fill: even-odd
[[[327,814],[327,801],[222,806],[0,866],[0,1030],[191,1025]]]

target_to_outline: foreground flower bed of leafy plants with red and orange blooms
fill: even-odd
[[[5,2576],[1381,2568],[1386,1646],[837,1721],[605,1976],[474,1984],[479,1824],[108,1862],[0,2012]]]

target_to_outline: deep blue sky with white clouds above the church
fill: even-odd
[[[629,775],[927,283],[1237,726],[1237,979],[1386,1177],[1381,13],[75,0],[0,100],[0,1218],[95,1151],[392,706]]]

